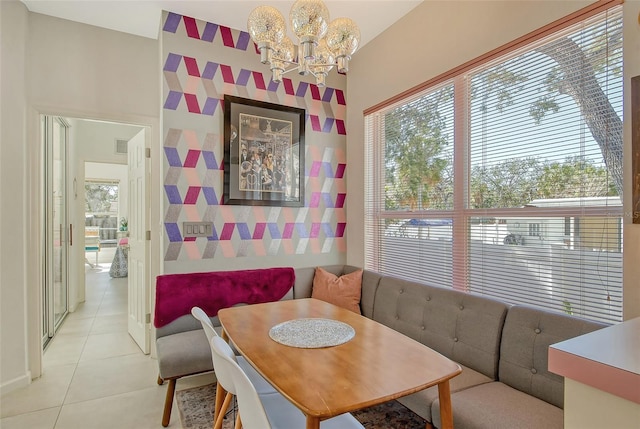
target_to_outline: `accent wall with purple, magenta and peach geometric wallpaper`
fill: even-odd
[[[344,76],[334,87],[296,73],[276,84],[247,32],[171,12],[161,43],[164,260],[316,254],[321,264],[345,253]],[[222,204],[225,94],[305,109],[304,207]],[[212,222],[213,233],[184,238],[184,221]]]

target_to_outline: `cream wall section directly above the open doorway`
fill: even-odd
[[[158,117],[157,40],[30,13],[28,50],[27,91],[36,108]]]

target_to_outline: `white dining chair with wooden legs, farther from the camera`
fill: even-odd
[[[204,312],[203,309],[201,309],[200,307],[193,307],[191,309],[191,314],[193,315],[193,317],[195,317],[197,320],[200,321],[200,324],[202,324],[202,329],[204,329],[204,333],[207,336],[207,342],[209,344],[211,344],[212,338],[219,338],[220,340],[222,340],[222,338],[220,338],[215,328],[213,327],[213,324],[211,323],[211,319],[209,319],[209,316],[207,315],[207,313]],[[256,390],[260,392],[260,394],[277,392],[272,385],[270,385],[260,374],[258,374],[258,372],[251,366],[249,362],[246,361],[244,357],[236,356],[233,353],[233,351],[231,354],[234,360],[236,361],[236,363],[243,369],[243,371],[245,371],[247,376],[251,379],[251,382],[253,383],[254,386],[256,386]],[[213,354],[211,355],[211,358],[213,359],[213,366],[215,371],[216,365],[215,365],[215,359]],[[229,409],[229,405],[231,404],[231,399],[233,399],[233,395],[235,395],[235,391],[229,390],[226,387],[227,385],[232,384],[232,380],[230,378],[227,380],[224,380],[225,374],[218,374],[217,371],[215,371],[215,373],[216,373],[216,379],[218,380],[218,383],[220,383],[220,385],[224,388],[224,390],[226,390],[225,397],[222,401],[222,405],[220,406],[220,411],[218,412],[218,415],[216,416],[216,420],[213,424],[214,429],[220,429],[222,427],[224,416],[227,413],[227,410]]]

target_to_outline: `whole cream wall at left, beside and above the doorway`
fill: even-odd
[[[29,13],[18,1],[1,1],[0,16],[0,386],[5,392],[39,376],[40,368],[39,114],[149,126],[154,168],[161,103],[157,40]],[[157,165],[154,171],[159,184]],[[160,222],[154,221],[152,236],[154,231],[159,236]]]

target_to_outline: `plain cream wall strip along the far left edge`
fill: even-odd
[[[25,55],[27,13],[0,2],[0,391],[29,383],[25,270],[28,235]],[[34,261],[35,262],[35,261]],[[38,320],[36,319],[37,323]]]

